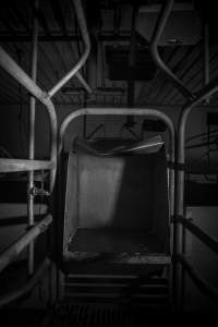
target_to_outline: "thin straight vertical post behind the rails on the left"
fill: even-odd
[[[35,9],[38,9],[38,0],[35,0]],[[38,21],[33,16],[33,41],[32,41],[32,68],[31,77],[36,82],[37,76],[37,56],[38,55]],[[28,159],[34,159],[35,156],[35,108],[36,99],[31,96],[29,98],[29,120],[28,120]],[[34,225],[34,195],[31,192],[34,187],[34,171],[28,172],[28,186],[27,186],[27,210],[28,210],[28,226]],[[28,246],[28,274],[34,272],[34,241]]]

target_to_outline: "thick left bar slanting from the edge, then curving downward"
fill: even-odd
[[[50,120],[50,161],[53,162],[55,168],[51,171],[50,192],[52,191],[56,170],[57,170],[57,114],[52,101],[49,99],[46,92],[40,87],[20,68],[20,65],[0,47],[0,65],[12,75],[19,83],[21,83],[33,96],[41,101],[49,113]]]

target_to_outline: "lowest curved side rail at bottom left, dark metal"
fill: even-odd
[[[16,289],[13,292],[7,293],[0,296],[0,307],[19,300],[26,293],[28,293],[37,284],[37,282],[45,276],[46,270],[49,268],[51,262],[49,258],[45,258],[37,271],[27,280],[27,282]]]

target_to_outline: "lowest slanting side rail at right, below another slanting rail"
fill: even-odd
[[[197,286],[197,288],[210,298],[211,300],[218,302],[218,290],[215,290],[206,280],[204,280],[196,269],[190,264],[187,258],[183,254],[177,255],[177,261],[182,265],[185,271],[189,274],[192,281]]]

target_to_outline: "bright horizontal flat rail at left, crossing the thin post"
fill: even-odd
[[[0,159],[0,172],[53,169],[55,162],[44,160]]]

